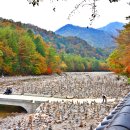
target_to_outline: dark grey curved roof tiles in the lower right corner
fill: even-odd
[[[130,130],[130,93],[120,101],[95,130]]]

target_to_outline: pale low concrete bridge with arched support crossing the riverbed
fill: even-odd
[[[34,113],[37,107],[46,101],[73,101],[73,102],[84,102],[96,101],[98,103],[102,102],[102,99],[62,99],[54,97],[38,97],[38,96],[25,96],[25,95],[3,95],[0,94],[0,104],[2,105],[12,105],[20,106],[24,108],[28,113]],[[115,99],[108,99],[108,101],[113,102]]]

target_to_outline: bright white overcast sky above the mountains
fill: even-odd
[[[53,1],[53,2],[52,2]],[[83,3],[74,13],[71,12],[83,0],[42,0],[39,6],[33,7],[27,0],[0,0],[0,17],[31,23],[46,30],[56,31],[66,24],[81,27],[90,26],[91,6],[89,1]],[[99,16],[93,21],[91,27],[99,28],[110,22],[123,22],[130,15],[130,0],[110,3],[109,0],[97,1]],[[53,10],[55,8],[55,11]],[[69,14],[71,17],[68,19]]]

